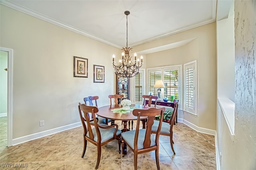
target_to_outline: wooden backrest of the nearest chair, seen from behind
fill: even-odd
[[[137,125],[136,125],[136,131],[135,131],[135,138],[134,138],[134,148],[138,148],[138,135],[139,135],[139,130],[140,130],[140,117],[148,117],[148,121],[146,122],[146,134],[145,134],[145,138],[144,138],[144,149],[146,148],[150,148],[150,136],[151,136],[151,128],[152,125],[154,124],[154,118],[156,117],[156,115],[160,115],[160,119],[163,119],[164,116],[164,111],[165,108],[161,107],[161,108],[154,108],[151,107],[149,109],[134,109],[132,111],[132,114],[134,116],[137,116]],[[162,126],[162,121],[159,122],[158,125],[158,129],[156,131],[156,145],[159,145],[159,133],[161,130],[161,126]]]

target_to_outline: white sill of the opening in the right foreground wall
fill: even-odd
[[[227,97],[219,97],[218,103],[225,117],[232,138],[235,134],[235,103]]]

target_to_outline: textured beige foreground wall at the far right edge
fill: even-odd
[[[230,137],[218,113],[218,148],[222,170],[256,169],[256,2],[234,1],[235,30],[235,131]]]

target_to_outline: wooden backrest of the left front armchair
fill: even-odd
[[[79,111],[79,115],[80,115],[80,119],[82,121],[82,125],[83,125],[83,128],[84,128],[84,136],[86,136],[87,132],[89,132],[89,138],[91,140],[93,140],[94,138],[94,135],[92,133],[92,127],[90,126],[90,117],[88,116],[89,113],[92,114],[92,118],[94,120],[94,127],[96,129],[96,133],[98,135],[98,142],[99,140],[101,140],[101,136],[100,136],[100,130],[98,128],[98,124],[97,124],[97,120],[96,120],[96,117],[95,117],[95,113],[98,112],[98,107],[95,107],[95,106],[87,106],[85,104],[81,104],[79,103],[78,105],[78,111]],[[84,114],[82,114],[82,112]],[[85,122],[87,123],[87,128],[86,128],[86,124]]]

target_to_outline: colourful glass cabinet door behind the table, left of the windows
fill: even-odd
[[[124,99],[130,99],[129,81],[127,77],[116,76],[116,94],[124,95]]]

